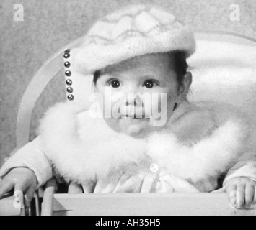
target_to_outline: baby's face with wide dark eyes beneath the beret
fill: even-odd
[[[167,124],[184,98],[170,61],[166,54],[150,54],[102,70],[95,91],[112,129],[140,138]]]

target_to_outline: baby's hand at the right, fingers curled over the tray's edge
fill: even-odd
[[[256,203],[256,181],[250,178],[232,178],[224,186],[229,201],[237,208],[250,208]]]

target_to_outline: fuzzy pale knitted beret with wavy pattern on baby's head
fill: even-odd
[[[172,50],[190,57],[193,32],[162,9],[132,5],[96,22],[74,53],[73,64],[80,73],[92,74],[131,57]]]

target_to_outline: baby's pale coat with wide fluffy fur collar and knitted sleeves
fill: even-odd
[[[256,179],[256,162],[239,162],[251,151],[250,124],[231,106],[184,102],[164,129],[145,139],[110,129],[96,108],[58,103],[49,109],[39,137],[6,162],[1,175],[25,165],[40,184],[55,172],[89,193],[209,192],[227,174]]]

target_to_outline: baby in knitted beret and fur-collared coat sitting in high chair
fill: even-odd
[[[38,137],[1,168],[0,197],[22,190],[26,205],[47,180],[77,193],[212,192],[237,206],[256,202],[249,123],[229,105],[190,103],[193,33],[171,14],[130,6],[100,19],[65,57],[92,74],[94,103],[58,103]]]

